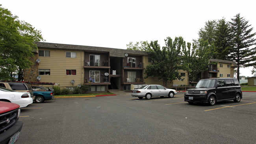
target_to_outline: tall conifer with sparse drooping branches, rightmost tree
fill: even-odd
[[[239,68],[256,66],[256,33],[252,33],[253,28],[248,25],[249,21],[241,17],[240,14],[231,19],[231,58],[237,67],[237,77],[239,78]]]

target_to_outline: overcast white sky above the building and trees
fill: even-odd
[[[186,42],[198,38],[208,20],[230,21],[240,13],[256,32],[252,0],[1,0],[35,29],[46,42],[126,49],[129,42],[182,36]],[[240,76],[251,77],[251,69]]]

